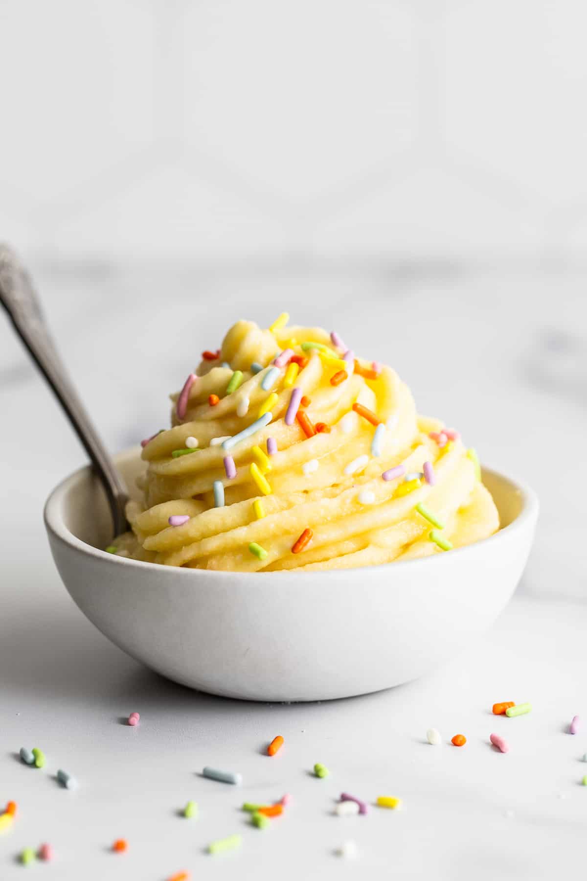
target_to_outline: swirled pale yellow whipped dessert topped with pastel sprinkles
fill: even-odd
[[[133,533],[117,552],[167,566],[308,571],[425,557],[494,533],[473,452],[416,415],[391,367],[354,359],[333,338],[338,347],[319,328],[234,324],[183,396],[172,395],[172,427],[146,442],[143,504],[129,503]],[[268,403],[267,425],[228,440]]]

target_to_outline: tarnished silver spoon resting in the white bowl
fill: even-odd
[[[0,302],[92,459],[106,490],[114,521],[114,535],[119,535],[128,529],[124,514],[128,499],[126,488],[62,365],[28,273],[11,248],[3,244],[0,244]]]

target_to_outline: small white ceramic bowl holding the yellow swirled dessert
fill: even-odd
[[[128,486],[138,448],[118,456]],[[534,493],[483,478],[503,528],[427,559],[336,572],[243,574],[154,566],[99,550],[106,498],[92,470],[51,493],[45,523],[65,587],[128,655],[170,679],[245,700],[327,700],[419,677],[488,628],[525,566]]]

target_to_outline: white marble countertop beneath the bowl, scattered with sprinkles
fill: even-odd
[[[537,544],[517,599],[485,640],[421,682],[357,700],[269,707],[189,692],[142,669],[87,623],[55,574],[41,523],[55,482],[84,462],[55,402],[0,322],[0,730],[2,793],[20,805],[0,838],[0,877],[18,877],[20,848],[50,840],[51,877],[555,877],[583,856],[585,655],[580,461],[587,432],[584,280],[511,268],[461,274],[381,266],[246,265],[93,271],[36,268],[55,337],[112,448],[165,425],[165,396],[235,317],[334,321],[353,347],[389,360],[419,409],[445,418],[488,464],[539,492]],[[474,589],[474,585],[472,585]],[[495,720],[495,700],[532,700],[532,714]],[[120,717],[138,710],[138,729]],[[462,750],[422,744],[434,725]],[[506,731],[507,756],[488,745]],[[260,751],[275,734],[286,747]],[[21,766],[43,748],[47,771]],[[315,761],[331,768],[319,781]],[[242,791],[202,781],[205,764],[236,768]],[[51,773],[64,766],[76,794]],[[331,817],[341,790],[405,799],[401,813]],[[290,791],[267,832],[238,813],[245,799]],[[559,797],[564,796],[564,797]],[[584,797],[583,797],[584,796]],[[194,798],[197,822],[177,818]],[[513,811],[506,817],[506,811]],[[239,854],[202,848],[242,832]],[[106,852],[114,838],[127,855]],[[356,840],[341,865],[332,850]],[[371,876],[367,873],[371,873]]]

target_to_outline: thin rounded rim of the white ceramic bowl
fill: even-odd
[[[140,448],[138,447],[121,450],[120,453],[114,455],[114,462],[116,463],[119,460],[130,458],[132,455],[136,455],[138,453],[140,453]],[[224,570],[216,571],[214,569],[190,569],[186,566],[164,566],[163,564],[150,563],[140,559],[118,557],[116,556],[116,554],[102,551],[100,548],[95,548],[92,546],[92,544],[87,544],[86,542],[82,541],[81,538],[74,536],[74,534],[70,531],[70,529],[65,526],[65,523],[62,520],[62,501],[72,491],[76,483],[81,480],[84,474],[90,473],[91,471],[91,464],[88,463],[86,465],[82,465],[80,468],[72,471],[71,474],[68,475],[66,478],[63,478],[49,493],[48,499],[45,502],[45,506],[43,508],[43,520],[45,522],[45,528],[47,529],[48,534],[55,537],[56,539],[61,540],[63,544],[69,545],[70,548],[75,549],[77,552],[80,552],[88,557],[101,559],[104,563],[106,563],[107,561],[114,566],[134,566],[137,567],[139,570],[146,568],[151,573],[156,571],[161,576],[163,576],[164,574],[171,575],[174,573],[175,577],[180,578],[197,578],[198,576],[202,576],[202,574],[205,574],[206,576],[211,576],[218,580],[226,581],[234,579],[235,576],[238,578],[253,579],[257,578],[259,575],[271,575],[274,578],[279,577],[280,579],[290,580],[292,578],[298,578],[305,580],[308,575],[318,575],[322,579],[333,580],[337,577],[341,578],[342,574],[349,574],[353,572],[369,572],[375,569],[385,569],[386,567],[391,567],[391,570],[393,571],[397,570],[399,567],[403,568],[404,566],[422,567],[430,565],[447,565],[447,563],[449,563],[451,559],[455,558],[455,555],[462,557],[464,554],[474,553],[480,548],[487,547],[488,544],[495,544],[495,542],[500,542],[510,537],[513,537],[515,533],[519,533],[525,530],[528,526],[533,527],[536,520],[538,519],[539,514],[538,496],[530,486],[526,485],[520,480],[517,480],[516,478],[511,478],[509,474],[505,474],[501,470],[495,470],[481,466],[481,473],[495,475],[496,478],[501,478],[511,485],[512,492],[517,492],[522,500],[522,508],[520,510],[520,513],[512,522],[510,522],[507,526],[504,526],[502,529],[499,529],[492,536],[481,538],[480,541],[473,542],[473,544],[466,544],[462,547],[455,548],[450,553],[432,554],[429,557],[423,557],[419,559],[407,559],[400,562],[392,561],[391,563],[380,563],[373,566],[356,566],[349,569],[316,569],[312,570],[312,573],[295,571],[292,572],[290,570],[284,570],[282,572],[276,571],[271,573],[263,573],[239,571],[232,572]]]

